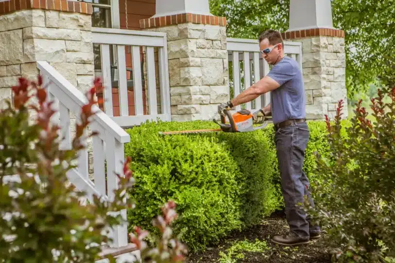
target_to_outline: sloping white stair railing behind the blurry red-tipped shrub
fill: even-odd
[[[50,100],[54,101],[58,109],[57,115],[52,121],[61,127],[60,136],[64,138],[61,149],[71,147],[71,122],[75,122],[73,116],[79,116],[81,107],[87,102],[83,93],[68,82],[58,71],[47,62],[38,62],[37,67],[43,76],[44,84],[48,85]],[[93,79],[92,79],[93,81]],[[113,191],[118,187],[118,178],[115,173],[122,174],[122,163],[124,162],[124,143],[130,142],[130,136],[109,116],[104,114],[96,105],[94,111],[98,111],[93,116],[93,121],[89,128],[98,132],[98,136],[93,137],[93,178],[89,179],[88,171],[88,148],[81,150],[78,157],[78,167],[70,170],[67,177],[79,191],[85,191],[87,199],[93,201],[93,195],[101,197],[103,200],[112,200]],[[71,118],[70,118],[71,117]],[[106,171],[105,165],[106,163]],[[126,209],[120,211],[122,217],[126,219]],[[123,247],[128,244],[128,231],[125,224],[117,226],[111,232],[114,242],[112,247]]]

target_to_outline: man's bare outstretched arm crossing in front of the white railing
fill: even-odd
[[[257,83],[253,84],[252,86],[241,92],[235,99],[231,100],[231,102],[234,106],[237,106],[249,101],[253,101],[260,95],[275,90],[278,87],[280,87],[280,84],[277,81],[273,80],[268,76],[265,76]]]

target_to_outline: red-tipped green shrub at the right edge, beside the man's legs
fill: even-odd
[[[329,155],[317,160],[316,208],[305,208],[339,245],[336,261],[389,262],[395,256],[395,87],[371,100],[374,122],[360,101],[350,127],[342,127],[343,103],[334,123],[327,118]],[[340,135],[344,130],[347,136]]]

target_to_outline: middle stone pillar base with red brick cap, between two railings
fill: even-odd
[[[172,120],[218,117],[218,105],[229,100],[225,17],[183,13],[140,27],[167,33]]]

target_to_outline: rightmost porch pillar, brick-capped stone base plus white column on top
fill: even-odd
[[[302,43],[307,119],[333,118],[341,99],[347,118],[345,32],[332,27],[330,0],[291,0],[290,7],[290,29],[282,37]]]

